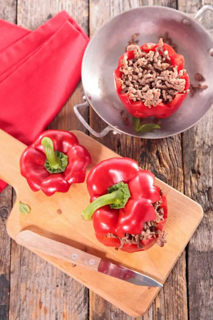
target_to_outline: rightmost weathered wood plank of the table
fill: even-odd
[[[202,5],[212,0],[202,1]],[[179,9],[194,17],[201,8],[195,0],[179,0]],[[205,26],[212,32],[212,12],[206,13]],[[194,70],[196,72],[196,70]],[[205,76],[205,75],[204,75]],[[213,108],[194,128],[183,133],[184,187],[187,196],[202,205],[204,218],[187,251],[189,318],[213,319]]]

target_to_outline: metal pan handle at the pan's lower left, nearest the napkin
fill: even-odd
[[[83,99],[86,100],[86,97],[83,96]],[[117,130],[115,130],[114,128],[112,128],[110,125],[108,125],[106,128],[103,129],[103,131],[101,132],[96,132],[95,130],[93,130],[90,125],[84,120],[84,118],[81,116],[80,112],[78,109],[84,109],[84,108],[88,108],[89,107],[89,103],[86,100],[83,103],[80,104],[76,104],[73,109],[74,109],[74,113],[77,116],[77,118],[80,120],[80,122],[85,126],[85,128],[92,133],[95,137],[97,138],[102,138],[104,137],[109,131],[113,131],[113,134],[117,134],[120,132],[118,132]]]

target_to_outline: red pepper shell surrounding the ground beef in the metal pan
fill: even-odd
[[[147,43],[143,44],[140,48],[141,51],[148,53],[149,51],[156,51],[156,48],[159,48],[159,44],[154,43]],[[169,45],[164,43],[164,51],[168,51],[169,57],[171,58],[171,65],[174,67],[178,67],[178,72],[184,69],[184,57],[181,54],[177,54],[174,49]],[[159,50],[160,52],[160,50]],[[171,116],[174,112],[176,112],[180,106],[182,105],[183,101],[186,99],[187,93],[178,93],[174,99],[169,103],[159,103],[156,107],[152,106],[148,108],[144,105],[142,101],[136,101],[129,99],[128,92],[121,93],[121,76],[122,72],[119,70],[120,67],[123,66],[123,58],[124,55],[127,56],[127,60],[134,59],[134,51],[127,51],[119,59],[118,68],[114,71],[114,79],[116,85],[116,91],[118,94],[119,99],[123,103],[124,107],[129,111],[132,116],[138,118],[150,117],[155,116],[156,118],[167,118]],[[185,90],[189,89],[189,76],[185,72],[183,76],[180,77],[181,79],[186,80]]]

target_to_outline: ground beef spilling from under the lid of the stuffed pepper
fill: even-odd
[[[152,221],[148,221],[144,223],[144,228],[140,235],[132,235],[129,233],[125,233],[125,236],[122,238],[119,238],[120,240],[120,246],[119,249],[121,249],[124,244],[137,244],[138,249],[143,248],[142,241],[146,241],[147,239],[156,238],[158,236],[157,243],[160,247],[163,247],[166,243],[166,231],[157,230],[157,223],[159,223],[161,220],[164,220],[164,209],[161,208],[162,201],[157,201],[156,203],[153,203],[153,207],[155,208],[156,213],[156,219]],[[118,238],[118,236],[108,233],[106,235],[108,238]]]

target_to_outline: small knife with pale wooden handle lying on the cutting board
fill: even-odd
[[[42,253],[63,259],[90,270],[130,282],[132,284],[163,287],[158,281],[137,271],[103,260],[82,250],[73,248],[67,244],[38,235],[30,230],[24,230],[17,234],[15,241],[27,248],[34,248]]]

